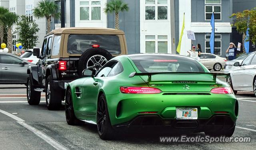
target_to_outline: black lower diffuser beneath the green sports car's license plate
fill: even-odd
[[[141,115],[129,122],[117,124],[116,130],[124,132],[205,132],[229,130],[235,122],[228,115],[214,115],[209,119],[176,120],[163,119],[158,115]]]

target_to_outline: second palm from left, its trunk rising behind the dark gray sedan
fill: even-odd
[[[7,27],[7,47],[9,49],[8,53],[12,53],[12,26],[17,23],[18,18],[19,16],[12,12],[7,12],[0,16],[1,22],[3,22]]]

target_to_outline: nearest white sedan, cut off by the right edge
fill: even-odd
[[[242,61],[235,62],[235,68],[230,70],[230,77],[227,82],[234,93],[237,91],[253,91],[256,96],[256,52],[250,53]]]

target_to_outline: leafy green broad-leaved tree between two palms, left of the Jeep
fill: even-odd
[[[36,33],[39,31],[36,22],[28,20],[26,16],[21,16],[17,24],[17,32],[20,36],[18,41],[22,43],[24,49],[32,49],[38,42],[38,36]]]

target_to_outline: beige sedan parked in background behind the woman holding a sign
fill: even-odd
[[[227,59],[211,53],[201,53],[199,61],[209,70],[220,71]]]

